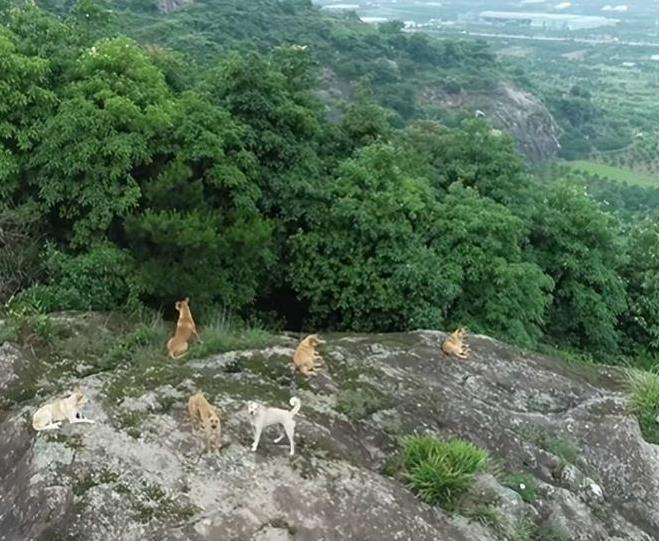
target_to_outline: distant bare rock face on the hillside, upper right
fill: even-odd
[[[561,148],[561,129],[547,107],[533,94],[511,83],[499,83],[484,92],[448,93],[437,87],[421,93],[425,102],[448,108],[460,108],[506,131],[528,160],[539,162],[555,158]]]

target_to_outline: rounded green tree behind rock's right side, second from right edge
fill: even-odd
[[[623,247],[616,220],[579,185],[546,193],[531,235],[534,257],[555,283],[547,331],[559,342],[602,355],[618,349],[626,306],[619,270]]]

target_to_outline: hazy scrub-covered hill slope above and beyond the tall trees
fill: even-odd
[[[75,5],[70,0],[37,3],[59,15]],[[160,11],[157,0],[141,0],[113,2],[106,9],[115,32],[199,63],[212,63],[232,49],[307,46],[314,60],[329,68],[322,82],[330,94],[347,97],[356,85],[365,85],[402,119],[428,116],[418,100],[424,87],[449,93],[482,90],[503,76],[485,42],[408,34],[398,22],[375,27],[354,15],[332,16],[306,0],[195,1],[170,13]]]

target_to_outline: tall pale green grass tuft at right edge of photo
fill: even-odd
[[[646,441],[659,444],[659,370],[627,371],[629,407]]]

